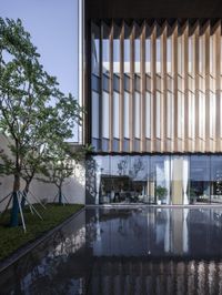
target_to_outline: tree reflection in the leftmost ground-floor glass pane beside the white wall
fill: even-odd
[[[85,161],[85,199],[87,203],[93,203],[97,196],[97,171],[98,164],[90,156]]]

